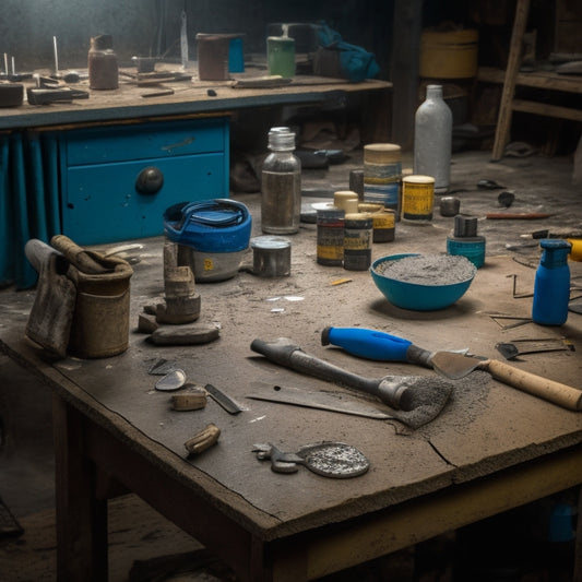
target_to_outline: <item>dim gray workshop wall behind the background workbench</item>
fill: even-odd
[[[245,33],[245,50],[264,52],[268,23],[324,20],[375,52],[380,78],[389,78],[393,0],[3,0],[0,56],[13,56],[21,72],[51,68],[56,36],[59,68],[79,69],[86,67],[91,37],[110,34],[121,66],[133,55],[178,59],[185,8],[191,59],[200,32]]]

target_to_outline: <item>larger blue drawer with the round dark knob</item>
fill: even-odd
[[[228,197],[226,159],[221,152],[69,167],[62,231],[79,245],[161,235],[164,211],[171,204]],[[155,193],[136,188],[138,176],[146,167],[163,174],[163,186]]]

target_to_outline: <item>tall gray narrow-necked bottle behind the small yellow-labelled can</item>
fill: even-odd
[[[414,123],[414,174],[432,176],[435,193],[449,190],[453,115],[442,98],[442,85],[428,85]]]

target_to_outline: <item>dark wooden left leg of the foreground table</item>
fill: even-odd
[[[52,396],[56,455],[57,578],[106,581],[107,501],[95,496],[95,466],[83,454],[82,415]]]

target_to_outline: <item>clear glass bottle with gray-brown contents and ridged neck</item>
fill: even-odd
[[[261,173],[261,228],[269,235],[299,230],[301,214],[301,162],[294,155],[295,133],[272,128]]]

